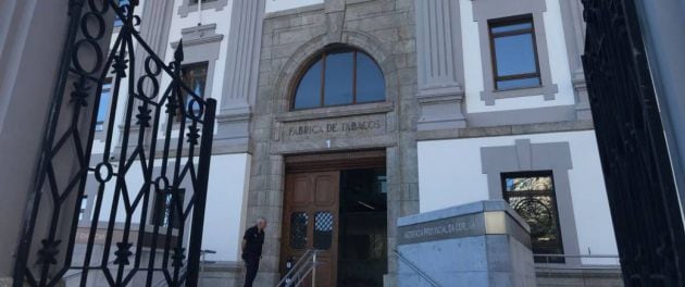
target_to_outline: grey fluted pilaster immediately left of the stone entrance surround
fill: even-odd
[[[252,105],[257,97],[264,0],[235,0],[231,15],[226,74],[216,115],[219,149],[247,151]]]

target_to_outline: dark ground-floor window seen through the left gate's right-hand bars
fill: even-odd
[[[183,224],[180,210],[184,208],[186,189],[178,189],[176,195],[177,197],[171,191],[155,194],[152,224],[162,227],[180,227]],[[178,209],[179,207],[180,209]]]

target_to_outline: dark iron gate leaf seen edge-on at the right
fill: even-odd
[[[685,286],[685,232],[633,0],[583,0],[585,76],[626,286]]]

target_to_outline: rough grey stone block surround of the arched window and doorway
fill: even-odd
[[[257,284],[279,278],[284,158],[299,153],[382,149],[387,154],[388,222],[419,212],[415,123],[418,118],[414,2],[410,0],[326,0],[265,15],[259,87],[251,122],[252,152],[247,222],[266,217],[269,233]],[[386,84],[382,103],[290,111],[294,85],[310,59],[329,45],[369,53]],[[363,116],[362,116],[363,115]],[[385,121],[372,136],[282,137],[283,128],[321,118],[374,117]],[[388,226],[388,248],[396,229]],[[389,273],[396,264],[390,258]],[[386,282],[387,284],[387,282]]]

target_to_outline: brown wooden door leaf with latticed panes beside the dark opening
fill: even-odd
[[[281,271],[307,250],[319,250],[316,286],[335,286],[338,259],[340,172],[291,173],[286,176]],[[311,275],[304,286],[311,286]]]

